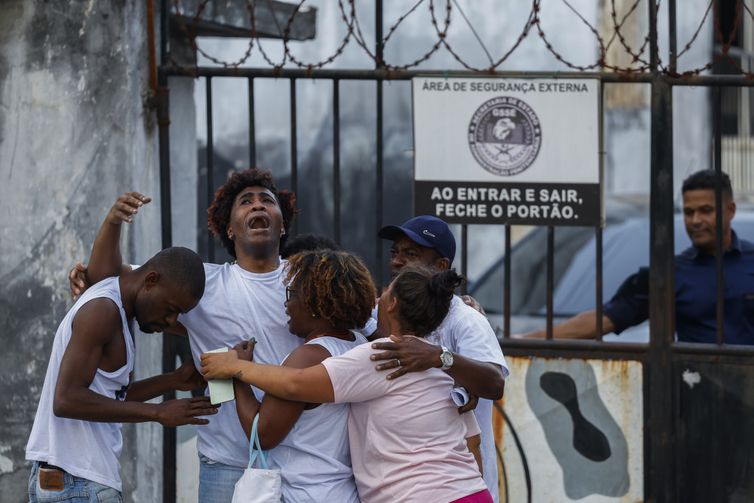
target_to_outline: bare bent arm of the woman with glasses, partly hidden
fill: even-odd
[[[251,351],[253,351],[251,344],[247,346],[246,350],[239,348],[239,346],[236,346],[235,349],[241,360],[251,360]],[[329,356],[330,353],[322,346],[304,345],[296,348],[283,362],[283,366],[305,369],[321,363]],[[241,426],[247,437],[251,435],[251,423],[254,416],[259,413],[259,442],[262,449],[265,450],[272,449],[283,441],[305,409],[318,407],[318,405],[304,402],[284,400],[269,393],[265,394],[260,405],[248,384],[234,379],[233,387],[236,394],[238,419],[241,421]]]

